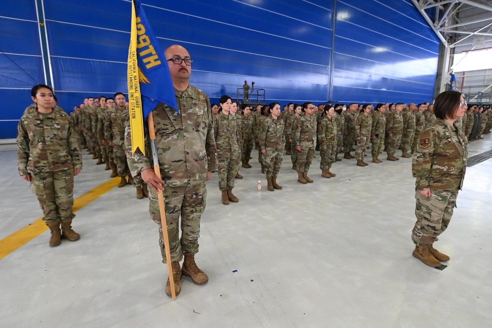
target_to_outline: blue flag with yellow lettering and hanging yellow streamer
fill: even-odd
[[[178,110],[173,82],[164,52],[154,35],[139,0],[131,3],[128,48],[128,103],[131,152],[145,154],[144,119],[159,103]]]

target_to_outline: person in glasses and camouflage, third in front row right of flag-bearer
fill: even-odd
[[[316,118],[312,113],[315,106],[306,102],[303,104],[304,115],[296,120],[292,131],[292,145],[296,149],[297,181],[306,184],[313,180],[307,176],[316,147]]]

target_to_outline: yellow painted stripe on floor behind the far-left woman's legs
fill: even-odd
[[[95,187],[91,191],[85,193],[84,195],[74,199],[73,201],[73,212],[82,209],[87,204],[91,203],[93,200],[99,198],[109,190],[113,189],[120,183],[120,178],[113,178],[104,182],[100,186]],[[25,245],[32,239],[41,235],[43,232],[48,230],[48,226],[42,220],[42,217],[32,222],[30,225],[22,228],[19,231],[14,232],[12,235],[5,237],[0,240],[0,260],[3,259],[8,254],[15,251],[17,248]],[[46,241],[48,243],[48,241]]]

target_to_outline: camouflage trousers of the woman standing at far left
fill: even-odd
[[[61,221],[75,215],[73,207],[73,170],[31,173],[31,191],[43,210],[43,221]]]

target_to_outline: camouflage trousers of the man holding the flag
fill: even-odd
[[[171,261],[179,262],[183,259],[183,254],[198,253],[200,219],[205,210],[207,189],[205,183],[197,186],[165,187],[163,196]],[[159,202],[152,188],[149,188],[149,212],[152,220],[159,226],[159,248],[162,262],[167,263]],[[179,224],[180,216],[181,225]]]

